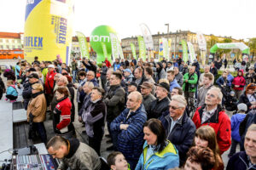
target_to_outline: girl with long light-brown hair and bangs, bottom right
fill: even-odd
[[[202,148],[209,147],[214,154],[215,164],[212,169],[224,170],[224,163],[219,155],[218,143],[215,131],[210,126],[199,127],[195,132],[194,145]]]

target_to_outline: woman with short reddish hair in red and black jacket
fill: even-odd
[[[55,92],[58,104],[54,110],[53,126],[56,135],[69,139],[73,135],[73,123],[71,122],[71,101],[68,99],[67,88],[57,88]]]

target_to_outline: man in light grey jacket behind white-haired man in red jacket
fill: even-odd
[[[205,99],[207,95],[207,91],[212,88],[212,80],[213,75],[212,73],[208,72],[204,74],[203,80],[202,80],[202,87],[198,90],[197,95],[197,107],[205,105]]]

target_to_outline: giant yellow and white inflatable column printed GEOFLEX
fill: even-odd
[[[73,33],[73,0],[26,1],[24,55],[32,62],[54,60],[60,55],[69,62]]]

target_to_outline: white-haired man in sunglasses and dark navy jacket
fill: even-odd
[[[169,111],[160,117],[160,121],[166,129],[167,139],[178,150],[180,165],[186,161],[186,153],[195,137],[195,124],[185,112],[186,105],[186,99],[182,95],[174,95],[169,105]]]

